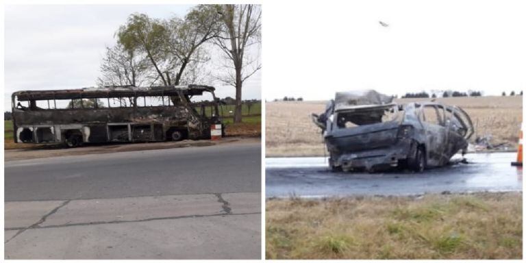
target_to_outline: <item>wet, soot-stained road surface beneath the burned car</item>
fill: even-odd
[[[515,158],[516,153],[469,153],[468,164],[374,174],[331,173],[325,158],[266,158],[266,197],[521,191],[523,171],[510,165]]]

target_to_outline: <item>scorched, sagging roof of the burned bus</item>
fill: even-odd
[[[179,92],[184,95],[203,95],[203,92],[213,92],[214,87],[203,85],[183,86],[105,86],[79,88],[73,90],[24,90],[13,92],[18,101],[38,101],[47,99],[94,99],[101,97],[141,97],[141,96],[175,96]]]

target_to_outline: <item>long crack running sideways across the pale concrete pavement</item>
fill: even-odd
[[[89,223],[74,223],[74,224],[64,224],[64,225],[46,225],[44,227],[39,225],[32,225],[31,227],[8,227],[5,228],[4,231],[8,230],[20,230],[25,231],[27,229],[45,229],[45,228],[60,228],[60,227],[76,227],[76,226],[83,226],[83,225],[103,225],[103,224],[118,224],[118,223],[139,223],[139,222],[147,222],[147,221],[158,221],[158,220],[169,220],[169,219],[181,219],[181,218],[205,218],[205,217],[214,217],[214,216],[244,216],[248,214],[261,214],[261,212],[253,212],[253,213],[239,213],[239,214],[227,214],[227,213],[221,213],[221,214],[196,214],[191,216],[166,216],[166,217],[155,217],[155,218],[145,218],[145,219],[138,219],[138,220],[123,220],[123,221],[97,221],[97,222],[89,222]],[[21,232],[20,232],[21,233]],[[18,236],[16,233],[15,236]],[[13,236],[11,239],[13,239],[15,236]],[[7,241],[9,242],[9,240]],[[5,243],[7,243],[5,242]]]

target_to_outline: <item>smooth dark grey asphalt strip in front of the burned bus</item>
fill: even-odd
[[[261,145],[240,143],[5,162],[5,201],[261,191]]]

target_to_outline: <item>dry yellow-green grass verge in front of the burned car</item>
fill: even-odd
[[[267,259],[521,259],[522,193],[266,201]]]

